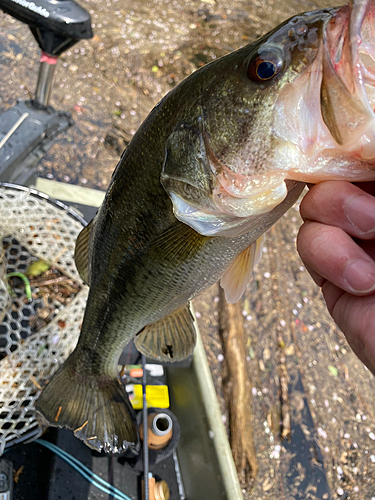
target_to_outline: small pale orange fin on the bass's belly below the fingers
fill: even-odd
[[[244,294],[250,281],[254,266],[260,261],[264,243],[264,235],[258,238],[243,252],[237,255],[230,268],[221,278],[220,285],[224,289],[225,298],[234,304]]]

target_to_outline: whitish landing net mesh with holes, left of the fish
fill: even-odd
[[[74,265],[74,246],[83,221],[67,207],[40,193],[0,186],[0,456],[5,447],[38,434],[35,401],[78,340],[88,288]],[[31,334],[30,317],[38,300],[28,303],[20,290],[10,297],[6,272],[24,272],[43,259],[80,283],[69,305],[57,303],[52,321]]]

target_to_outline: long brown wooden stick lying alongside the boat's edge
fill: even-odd
[[[236,469],[243,485],[255,479],[258,471],[252,411],[251,383],[246,367],[245,330],[241,302],[227,304],[219,292],[219,335],[224,353],[223,389],[230,419],[230,445]]]

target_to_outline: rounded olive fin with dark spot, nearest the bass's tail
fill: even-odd
[[[162,362],[181,361],[194,350],[196,332],[190,307],[147,325],[134,339],[136,348],[148,358]]]

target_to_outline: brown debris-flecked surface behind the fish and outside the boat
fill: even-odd
[[[340,2],[89,1],[95,37],[63,55],[52,104],[76,126],[39,166],[50,179],[105,189],[119,155],[153,105],[193,70],[303,10]],[[27,99],[38,53],[0,13],[0,108]],[[294,207],[268,232],[242,300],[258,476],[247,499],[375,498],[375,382],[326,312],[295,250]],[[195,301],[217,394],[222,394],[218,288]],[[280,373],[289,380],[292,440],[280,439]],[[308,458],[306,458],[308,457]]]

